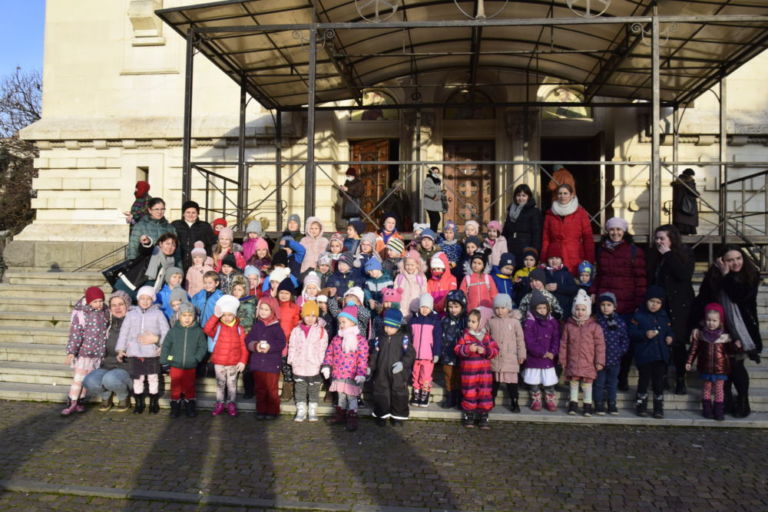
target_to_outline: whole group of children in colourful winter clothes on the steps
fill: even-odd
[[[282,377],[283,399],[293,394],[296,401],[296,421],[317,421],[325,383],[336,397],[331,423],[356,430],[365,392],[377,424],[401,425],[409,406],[429,405],[441,363],[442,405],[459,406],[468,428],[489,428],[502,385],[510,409],[519,412],[520,380],[533,411],[555,411],[560,370],[570,389],[568,414],[579,412],[580,391],[585,416],[618,414],[620,361],[631,346],[639,370],[636,412],[647,414],[651,384],[653,415],[663,417],[673,335],[658,287],[648,288],[645,305],[627,324],[616,313],[613,293],[590,297],[591,263],[572,273],[555,250],[540,265],[537,251],[527,248],[517,266],[496,221],[484,241],[479,225],[467,222],[462,242],[447,222],[441,236],[417,226],[406,243],[392,216],[377,233],[353,221],[346,237],[324,237],[316,217],[307,219],[304,233],[299,227],[292,215],[282,237],[271,242],[253,221],[238,245],[231,229],[214,223],[219,243],[211,255],[196,244],[186,272],[171,267],[159,292],[150,286],[137,291],[117,344],[133,379],[135,413],[144,411],[147,397],[149,412],[158,412],[167,366],[171,416],[182,410],[194,416],[196,379],[212,367],[214,416],[237,415],[242,374],[259,419],[279,415]],[[67,350],[75,381],[81,381],[98,367],[94,340],[107,322],[103,294],[91,290],[77,307],[89,320],[73,320]],[[732,350],[722,308],[707,307],[692,340],[689,367],[698,358],[704,413],[722,419]],[[79,393],[70,397],[77,400]]]

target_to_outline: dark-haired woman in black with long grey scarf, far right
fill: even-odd
[[[725,325],[734,340],[741,342],[742,351],[734,354],[731,375],[725,387],[726,409],[736,417],[749,416],[749,374],[744,367],[747,357],[760,362],[763,340],[757,316],[757,290],[760,273],[744,252],[736,246],[726,246],[699,288],[697,312],[704,305],[717,302],[725,310]],[[697,315],[697,318],[700,315]],[[731,384],[738,393],[733,399]]]

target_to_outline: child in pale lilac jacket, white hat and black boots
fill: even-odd
[[[133,379],[133,394],[136,397],[134,414],[141,414],[146,407],[144,378],[149,383],[149,412],[160,412],[160,340],[168,332],[168,320],[155,304],[155,290],[142,286],[136,292],[139,307],[131,309],[123,320],[120,337],[117,339],[117,360],[122,362],[128,356],[128,373]]]

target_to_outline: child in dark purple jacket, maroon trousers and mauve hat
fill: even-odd
[[[280,308],[277,300],[268,295],[259,300],[256,322],[245,337],[251,352],[249,369],[256,395],[256,419],[277,419],[280,398],[277,383],[280,380],[285,334],[280,327]]]

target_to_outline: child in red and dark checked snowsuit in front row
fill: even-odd
[[[467,328],[453,351],[461,360],[461,423],[473,428],[477,420],[482,430],[488,430],[488,413],[493,409],[490,360],[499,354],[499,346],[482,327],[480,311],[470,311]]]

